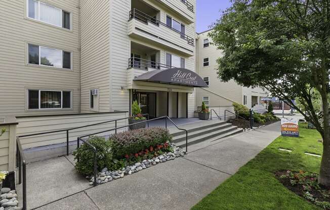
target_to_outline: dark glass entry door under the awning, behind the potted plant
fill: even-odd
[[[149,114],[149,118],[156,117],[156,93],[154,92],[134,92],[133,101],[138,101],[141,114]]]

